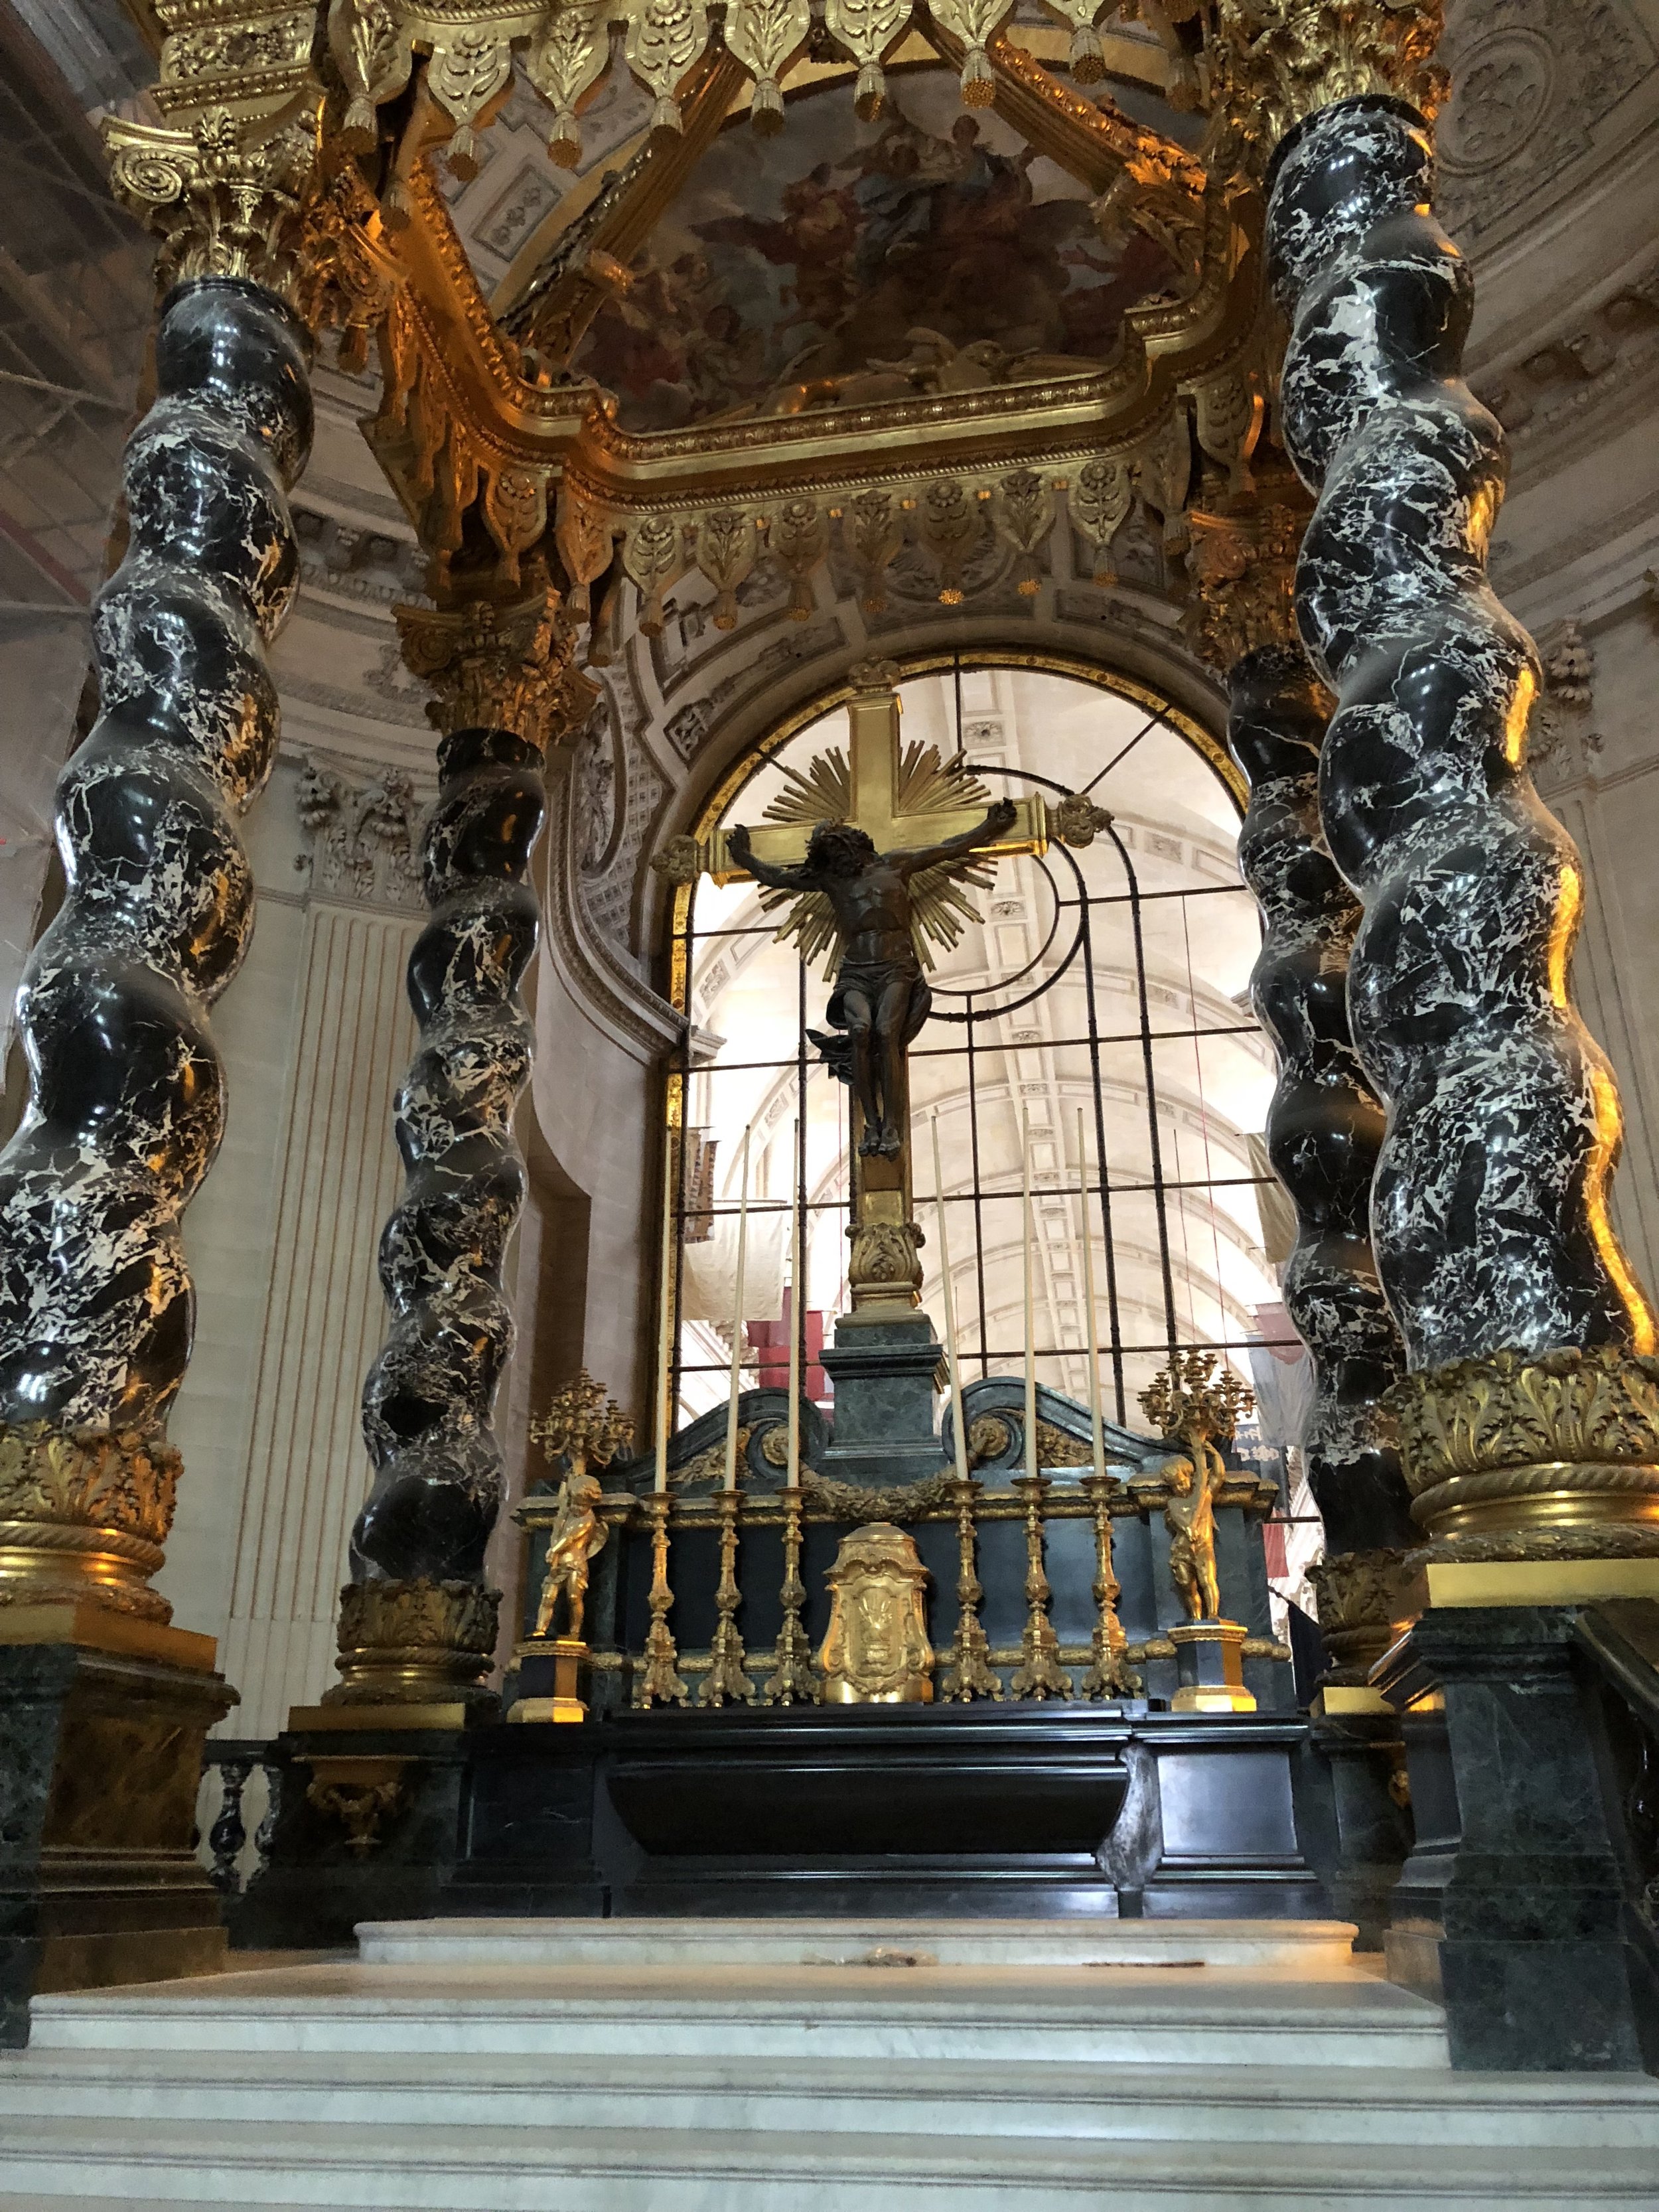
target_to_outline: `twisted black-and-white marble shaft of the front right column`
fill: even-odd
[[[1363,902],[1354,1042],[1389,1106],[1371,1230],[1413,1371],[1635,1345],[1619,1104],[1568,998],[1579,860],[1526,774],[1537,650],[1486,582],[1504,440],[1462,383],[1469,268],[1427,126],[1345,100],[1274,157],[1285,445],[1318,509],[1296,615],[1338,695],[1325,836]]]

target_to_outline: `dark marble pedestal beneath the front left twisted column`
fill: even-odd
[[[208,1637],[133,1624],[128,1641],[170,1657],[0,1644],[4,2044],[27,2042],[31,1995],[210,1973],[223,1958],[195,1807],[201,1747],[237,1694]]]

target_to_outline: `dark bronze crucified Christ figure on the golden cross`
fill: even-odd
[[[933,1004],[911,929],[911,878],[967,860],[978,845],[1004,836],[1015,818],[1013,801],[998,799],[978,827],[916,852],[876,852],[865,830],[818,823],[801,867],[757,860],[741,823],[728,832],[732,858],[757,883],[776,891],[821,891],[836,916],[841,967],[830,995],[830,1024],[847,1040],[847,1073],[865,1117],[860,1152],[896,1159],[905,1144],[907,1055]]]

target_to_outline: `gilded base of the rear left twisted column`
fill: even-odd
[[[500,1590],[476,1582],[347,1582],[341,1590],[341,1705],[482,1705],[493,1692]]]

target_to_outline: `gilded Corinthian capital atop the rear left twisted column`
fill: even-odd
[[[546,750],[575,737],[597,686],[575,666],[575,628],[551,586],[498,606],[465,599],[451,608],[396,608],[403,657],[438,695],[427,703],[434,730],[511,730]]]

